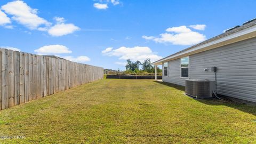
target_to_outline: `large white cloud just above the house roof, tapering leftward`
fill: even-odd
[[[160,34],[158,37],[142,36],[142,38],[156,43],[171,43],[174,45],[192,45],[206,39],[205,35],[192,31],[186,26],[167,28],[166,31],[169,33]]]

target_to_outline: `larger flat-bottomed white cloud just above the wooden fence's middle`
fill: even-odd
[[[40,55],[50,55],[50,54],[61,54],[61,53],[71,53],[68,47],[64,45],[45,45],[35,50],[37,54]]]

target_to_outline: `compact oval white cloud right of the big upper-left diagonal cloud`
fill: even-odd
[[[80,30],[80,28],[75,26],[73,23],[58,23],[53,27],[51,27],[48,30],[48,33],[51,36],[63,36],[63,35],[72,34],[77,30]]]

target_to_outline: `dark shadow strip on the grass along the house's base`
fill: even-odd
[[[180,91],[185,91],[185,86],[180,86],[180,85],[166,83],[166,82],[158,82],[158,81],[155,81],[155,82],[162,84],[162,85],[173,87],[174,89],[177,89]],[[187,97],[189,97],[189,96],[187,96]],[[190,97],[190,98],[193,98],[193,97]],[[221,95],[221,98],[223,100],[219,100],[219,99],[215,99],[215,98],[213,98],[213,99],[193,98],[193,99],[198,102],[204,103],[205,105],[227,106],[227,107],[238,109],[245,113],[252,114],[252,115],[256,116],[256,103],[239,100],[239,99],[235,99],[235,98],[230,98],[230,97],[225,97],[224,95]]]

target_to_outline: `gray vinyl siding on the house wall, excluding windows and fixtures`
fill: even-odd
[[[256,102],[256,38],[193,54],[189,60],[190,79],[214,80],[211,67],[217,66],[218,94]],[[169,61],[168,66],[169,75],[163,81],[184,86],[180,59]]]

